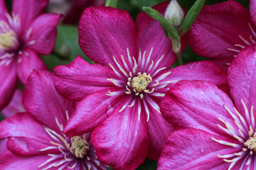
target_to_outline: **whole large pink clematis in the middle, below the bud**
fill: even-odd
[[[169,3],[154,6],[164,13]],[[176,60],[158,21],[142,12],[136,23],[127,11],[86,8],[79,24],[81,57],[55,67],[54,84],[70,101],[80,101],[64,132],[92,132],[97,156],[114,169],[135,169],[146,155],[159,159],[174,129],[162,118],[159,101],[181,79],[207,79],[225,86],[225,73],[210,61],[169,70]],[[183,39],[183,47],[186,45]]]

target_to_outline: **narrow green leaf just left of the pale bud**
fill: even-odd
[[[159,21],[161,27],[165,29],[164,31],[167,31],[169,33],[169,36],[171,36],[171,38],[175,38],[176,40],[180,39],[177,34],[176,28],[174,28],[174,26],[171,26],[171,24],[164,18],[164,16],[161,15],[161,13],[159,13],[159,11],[156,11],[155,9],[146,6],[143,7],[143,10],[149,16],[151,16],[151,18]]]

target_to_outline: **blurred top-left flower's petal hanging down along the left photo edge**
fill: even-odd
[[[11,97],[14,95],[17,84],[16,64],[11,62],[9,65],[2,64],[0,66],[0,110],[8,105]]]

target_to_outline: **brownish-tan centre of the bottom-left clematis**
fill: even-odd
[[[75,157],[83,158],[87,154],[87,149],[89,149],[89,144],[85,140],[85,137],[75,136],[71,138],[70,152],[75,154]]]

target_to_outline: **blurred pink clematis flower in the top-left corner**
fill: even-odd
[[[47,69],[38,55],[53,49],[57,14],[42,14],[48,0],[13,1],[12,14],[0,0],[0,110],[16,89],[17,77],[25,84],[33,69]]]

